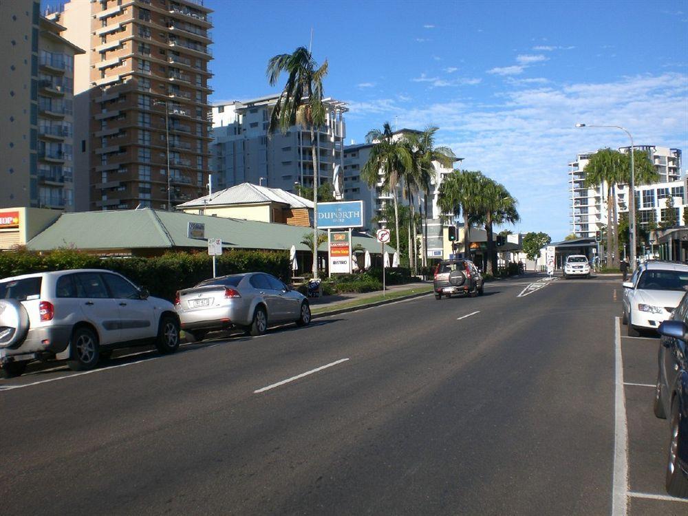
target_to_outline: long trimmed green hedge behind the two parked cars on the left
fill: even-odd
[[[153,258],[105,259],[69,249],[54,250],[43,255],[31,251],[0,252],[0,278],[80,268],[115,270],[146,287],[151,295],[171,301],[177,290],[192,287],[212,277],[213,259],[204,252],[166,252]],[[288,279],[288,252],[230,250],[217,258],[219,276],[254,270]]]

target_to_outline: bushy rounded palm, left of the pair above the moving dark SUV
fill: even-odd
[[[480,213],[478,206],[478,186],[482,173],[471,170],[455,170],[440,184],[438,208],[443,213],[463,215],[464,219],[464,255],[471,256],[471,217]]]

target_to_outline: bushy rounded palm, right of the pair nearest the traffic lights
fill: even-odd
[[[516,211],[517,201],[503,184],[483,176],[479,182],[477,199],[480,217],[485,225],[487,237],[488,272],[497,273],[497,250],[493,241],[493,224],[513,224],[520,217]]]

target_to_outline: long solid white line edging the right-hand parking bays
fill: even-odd
[[[623,392],[620,318],[614,317],[614,476],[612,478],[612,516],[625,516],[628,493],[628,426]]]

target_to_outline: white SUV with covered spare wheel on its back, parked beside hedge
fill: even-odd
[[[172,303],[109,270],[0,280],[0,374],[6,378],[39,359],[67,358],[75,371],[92,369],[116,347],[155,343],[161,353],[175,352],[179,331]]]

